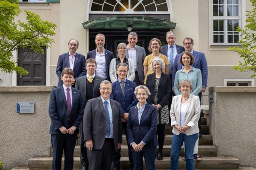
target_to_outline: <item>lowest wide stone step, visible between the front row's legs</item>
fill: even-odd
[[[128,157],[121,157],[121,169],[129,169]],[[170,157],[156,160],[156,169],[170,169]],[[179,158],[179,168],[185,169],[186,161]],[[47,170],[52,167],[52,157],[30,158],[28,160],[30,170]],[[63,167],[63,159],[62,159]],[[233,157],[203,157],[201,161],[195,161],[196,169],[238,169],[239,160]],[[74,169],[81,169],[79,157],[74,157]]]

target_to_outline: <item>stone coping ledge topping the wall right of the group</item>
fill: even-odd
[[[216,86],[216,87],[209,87],[209,92],[256,92],[255,86]]]

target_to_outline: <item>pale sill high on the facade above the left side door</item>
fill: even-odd
[[[33,9],[43,9],[50,10],[51,3],[48,2],[20,2],[19,7],[21,10],[33,10]]]

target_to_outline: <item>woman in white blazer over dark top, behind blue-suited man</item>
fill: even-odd
[[[109,66],[109,77],[110,77],[111,82],[115,82],[117,80],[116,67],[120,63],[125,63],[129,66],[128,74],[126,75],[126,79],[133,81],[135,78],[134,63],[133,63],[133,60],[125,57],[126,44],[119,43],[117,46],[117,52],[118,52],[118,57],[113,58],[110,62],[110,66]]]

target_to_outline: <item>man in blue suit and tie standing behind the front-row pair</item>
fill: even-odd
[[[136,88],[136,83],[127,80],[126,75],[128,73],[129,66],[125,63],[120,63],[117,65],[116,73],[118,75],[117,81],[112,83],[113,90],[111,92],[110,98],[118,101],[121,105],[121,114],[122,114],[122,123],[123,131],[125,130],[126,134],[126,122],[129,116],[129,110],[131,106],[135,106],[138,103],[138,100],[134,94]],[[127,137],[126,137],[127,140]],[[127,142],[128,143],[128,142]],[[131,146],[128,146],[130,167],[133,169],[132,156],[131,156]],[[120,169],[120,158],[121,158],[121,148],[115,152],[113,157],[113,170]]]

